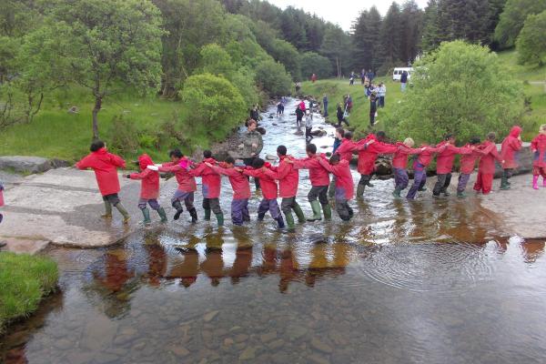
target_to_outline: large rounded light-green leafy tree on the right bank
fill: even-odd
[[[411,81],[393,116],[399,137],[437,143],[446,133],[460,140],[505,133],[524,111],[521,86],[485,46],[442,43],[420,60]]]

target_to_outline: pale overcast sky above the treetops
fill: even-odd
[[[308,13],[314,13],[341,26],[343,30],[350,30],[350,25],[359,16],[361,10],[376,5],[379,13],[385,15],[391,4],[389,0],[268,0],[268,2],[282,9],[289,5],[302,8]],[[403,1],[398,1],[398,3],[402,4]],[[424,9],[427,0],[416,0],[416,3]]]

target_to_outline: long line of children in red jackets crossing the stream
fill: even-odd
[[[353,152],[359,154],[358,171],[361,175],[357,187],[357,197],[364,195],[366,187],[372,187],[369,183],[374,172],[375,160],[381,155],[393,155],[392,167],[394,169],[395,189],[394,197],[400,197],[400,193],[409,185],[407,171],[408,157],[414,155],[413,173],[414,179],[407,198],[413,199],[418,191],[424,191],[426,181],[426,169],[433,157],[436,156],[436,173],[438,180],[432,194],[440,197],[447,196],[450,186],[453,161],[456,155],[460,158],[460,175],[457,186],[458,197],[464,197],[464,191],[469,181],[470,174],[474,170],[476,161],[479,160],[478,177],[474,190],[487,195],[491,191],[493,173],[495,171],[495,160],[501,163],[504,173],[501,179],[501,189],[510,188],[510,177],[514,168],[518,167],[517,153],[521,149],[521,127],[514,126],[501,147],[501,154],[498,153],[495,145],[495,134],[488,134],[486,140],[480,143],[480,139],[474,137],[464,147],[455,147],[455,136],[446,136],[437,146],[421,146],[414,148],[414,142],[407,138],[404,142],[389,144],[386,142],[384,132],[370,134],[366,138],[353,141],[352,133],[343,128],[336,130],[336,143],[331,157],[317,153],[314,144],[307,145],[305,158],[295,158],[288,155],[284,146],[277,148],[280,159],[278,167],[271,166],[263,159],[258,158],[261,146],[258,146],[256,139],[253,139],[257,126],[256,121],[248,122],[248,134],[245,143],[248,147],[256,150],[254,157],[245,159],[247,167],[238,167],[232,157],[225,161],[218,162],[212,157],[210,151],[203,153],[203,161],[194,163],[185,157],[180,150],[170,152],[170,162],[156,165],[146,154],[138,158],[140,173],[125,175],[124,177],[141,180],[141,192],[138,207],[144,216],[144,223],[150,223],[150,215],[147,206],[157,211],[162,222],[167,222],[167,215],[163,207],[157,202],[159,196],[159,172],[174,173],[177,178],[178,188],[171,198],[172,206],[176,209],[174,219],[177,220],[182,212],[184,203],[187,212],[193,223],[197,222],[197,209],[194,206],[194,193],[197,190],[196,177],[202,178],[203,209],[205,220],[209,220],[211,212],[217,217],[218,226],[224,224],[224,214],[219,204],[221,176],[227,176],[233,188],[233,201],[231,202],[231,219],[234,225],[242,225],[250,220],[248,213],[248,198],[250,197],[249,177],[256,179],[257,188],[261,188],[263,199],[258,207],[258,220],[262,220],[269,212],[279,228],[285,227],[281,211],[286,218],[288,228],[295,225],[292,211],[298,217],[300,223],[317,221],[322,218],[330,219],[332,216],[329,205],[329,197],[335,197],[335,207],[339,217],[348,221],[353,217],[349,200],[354,197],[354,183],[349,168],[349,161]],[[261,139],[260,139],[261,140]],[[247,143],[247,144],[248,144]],[[542,177],[542,187],[546,187],[546,125],[540,127],[539,135],[531,141],[531,152],[533,154],[533,178],[532,187],[538,189],[539,177]],[[79,169],[91,168],[95,171],[98,188],[103,196],[106,213],[103,217],[112,218],[112,207],[121,213],[124,222],[130,217],[123,207],[117,193],[120,190],[117,168],[125,168],[126,162],[114,154],[108,153],[106,145],[102,141],[95,141],[91,145],[91,154],[76,163]],[[311,190],[308,192],[308,201],[311,205],[313,216],[305,218],[296,201],[298,194],[298,171],[308,169]],[[334,177],[330,181],[329,175]],[[258,183],[259,181],[259,183]],[[0,206],[4,205],[2,191],[4,187],[0,184]],[[282,197],[280,208],[277,198]],[[2,215],[0,215],[0,221]]]

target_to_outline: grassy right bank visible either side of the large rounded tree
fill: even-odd
[[[523,126],[523,139],[530,140],[538,132],[538,126],[546,124],[546,92],[545,86],[533,84],[546,79],[546,66],[521,66],[517,63],[515,51],[502,52],[499,54],[501,62],[507,71],[523,85],[528,111],[520,120]],[[502,75],[499,75],[500,77]],[[322,95],[329,96],[329,119],[337,122],[336,107],[343,102],[343,96],[350,94],[353,98],[353,109],[349,117],[350,128],[355,130],[357,136],[363,136],[371,130],[369,128],[369,100],[364,96],[364,89],[355,80],[354,86],[349,86],[348,79],[326,79],[319,80],[315,84],[305,82],[302,85],[304,95],[312,95],[322,100]],[[389,115],[398,105],[403,97],[400,91],[399,82],[393,82],[391,77],[378,77],[377,83],[383,81],[387,86],[386,106],[379,109],[376,130],[385,130],[388,134],[397,127],[396,121],[392,121]]]

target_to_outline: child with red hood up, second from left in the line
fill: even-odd
[[[125,175],[125,177],[141,181],[138,208],[140,208],[144,216],[144,225],[152,222],[150,220],[150,210],[147,209],[147,205],[155,209],[159,217],[161,217],[161,222],[165,223],[167,222],[167,214],[157,202],[157,197],[159,197],[159,173],[148,168],[148,166],[155,166],[154,161],[145,153],[138,157],[138,166],[140,167],[140,173],[132,173]]]

